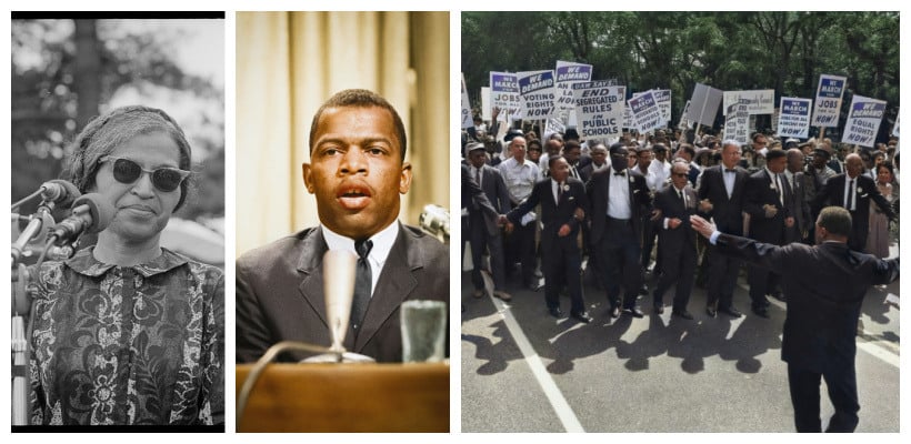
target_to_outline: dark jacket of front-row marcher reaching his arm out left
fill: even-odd
[[[534,184],[531,194],[519,206],[515,206],[507,214],[509,221],[519,223],[522,216],[534,209],[539,203],[541,204],[541,223],[544,228],[541,230],[541,251],[547,254],[552,251],[552,248],[558,245],[575,246],[577,238],[579,235],[579,221],[575,220],[575,209],[581,208],[587,214],[589,212],[589,202],[585,196],[585,185],[582,181],[574,178],[567,178],[565,185],[569,190],[563,192],[560,196],[560,202],[553,200],[553,188],[551,179],[544,179]],[[559,236],[560,226],[569,224],[572,230],[569,235]]]

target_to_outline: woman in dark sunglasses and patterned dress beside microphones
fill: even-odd
[[[77,137],[68,173],[116,213],[33,280],[31,424],[223,423],[223,274],[159,243],[190,188],[183,131],[158,109],[114,109]]]

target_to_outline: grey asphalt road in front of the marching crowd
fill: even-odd
[[[654,279],[647,279],[649,289]],[[784,303],[771,319],[749,312],[741,276],[740,319],[705,315],[695,287],[695,319],[651,312],[612,320],[603,291],[585,282],[594,317],[555,320],[538,292],[509,289],[510,303],[471,296],[462,275],[462,432],[793,432],[785,364]],[[884,302],[899,282],[873,289],[858,337],[858,432],[899,432],[899,309]],[[569,313],[569,300],[562,297]],[[822,393],[823,428],[832,407]]]

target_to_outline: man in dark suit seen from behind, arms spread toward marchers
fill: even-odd
[[[854,372],[857,330],[863,296],[871,285],[899,278],[899,259],[879,260],[850,251],[851,215],[842,208],[820,212],[815,246],[777,246],[722,234],[702,218],[693,229],[715,244],[719,254],[735,255],[765,266],[783,278],[788,315],[781,340],[781,360],[798,432],[820,432],[820,380],[825,379],[835,413],[827,432],[853,432],[858,424]]]

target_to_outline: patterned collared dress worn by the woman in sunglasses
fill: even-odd
[[[116,266],[88,248],[30,290],[31,424],[224,422],[221,270],[164,249]]]

